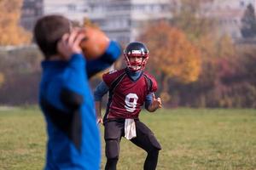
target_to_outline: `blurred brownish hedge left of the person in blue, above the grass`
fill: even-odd
[[[30,105],[38,103],[38,86],[43,59],[38,48],[0,49],[0,105]]]

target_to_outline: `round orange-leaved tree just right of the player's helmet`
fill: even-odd
[[[195,82],[201,72],[201,53],[187,39],[183,31],[172,27],[166,21],[148,26],[139,40],[149,49],[148,67],[158,72],[161,93],[168,92],[168,80]]]

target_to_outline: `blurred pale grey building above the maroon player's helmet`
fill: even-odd
[[[119,42],[136,39],[150,21],[171,19],[176,3],[170,0],[88,0],[88,17]],[[172,7],[172,5],[174,5]]]

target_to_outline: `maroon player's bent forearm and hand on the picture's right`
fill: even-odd
[[[145,108],[149,112],[154,112],[154,111],[158,110],[161,107],[162,107],[161,99],[160,98],[155,99],[154,93],[149,93],[146,96]]]

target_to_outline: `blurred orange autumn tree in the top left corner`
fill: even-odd
[[[20,27],[21,0],[0,1],[0,46],[20,45],[31,41],[31,35]]]

